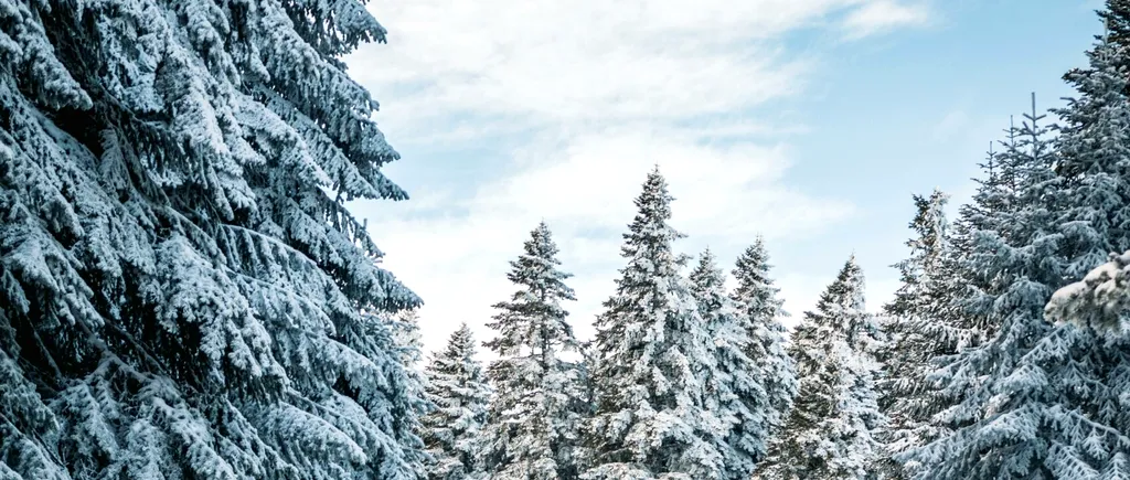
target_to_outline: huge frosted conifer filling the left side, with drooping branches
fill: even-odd
[[[339,60],[384,34],[357,0],[0,0],[0,477],[414,478],[380,315],[419,299],[344,206],[407,198]]]

